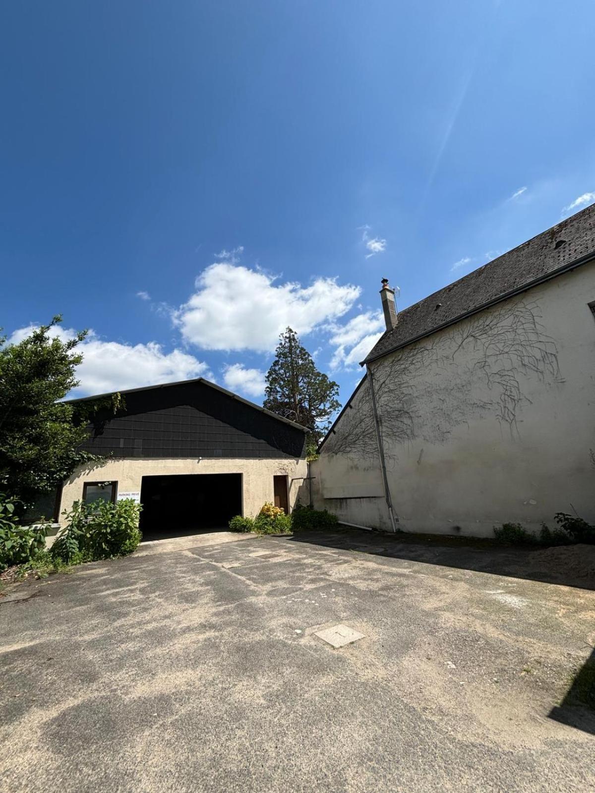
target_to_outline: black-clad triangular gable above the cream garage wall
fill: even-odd
[[[305,433],[203,383],[125,394],[102,411],[83,449],[114,457],[303,458]]]

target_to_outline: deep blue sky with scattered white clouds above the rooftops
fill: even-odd
[[[292,325],[346,400],[399,308],[595,201],[592,0],[5,4],[0,324],[78,393],[255,401]]]

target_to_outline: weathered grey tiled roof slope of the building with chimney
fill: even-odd
[[[595,205],[398,314],[363,363],[380,358],[595,255]]]

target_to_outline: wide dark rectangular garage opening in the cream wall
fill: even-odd
[[[140,531],[144,540],[226,529],[242,514],[241,473],[143,477]]]

